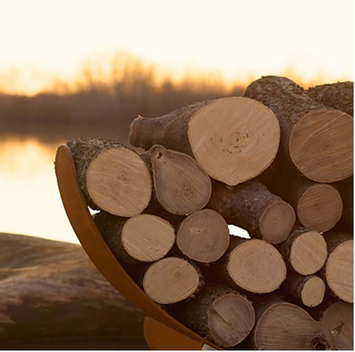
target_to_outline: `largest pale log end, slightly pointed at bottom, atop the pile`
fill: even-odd
[[[189,121],[188,136],[202,168],[212,178],[234,186],[271,164],[280,142],[280,126],[263,104],[230,97],[199,109]]]

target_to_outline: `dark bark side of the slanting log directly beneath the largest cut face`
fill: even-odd
[[[261,216],[276,201],[282,199],[256,179],[234,187],[214,182],[207,208],[219,212],[227,223],[246,229],[251,237],[263,238]]]

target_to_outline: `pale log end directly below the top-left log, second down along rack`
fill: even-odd
[[[158,216],[139,214],[126,221],[121,239],[131,257],[153,262],[169,252],[175,242],[175,231],[168,221]]]

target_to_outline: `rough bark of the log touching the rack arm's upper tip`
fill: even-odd
[[[108,148],[124,147],[124,145],[104,138],[77,138],[66,144],[73,155],[76,173],[87,204],[91,209],[99,210],[99,206],[94,203],[89,195],[86,186],[86,172],[91,161],[94,160],[101,151]]]

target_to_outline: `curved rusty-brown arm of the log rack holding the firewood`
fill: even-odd
[[[149,299],[121,267],[92,220],[78,184],[70,149],[65,144],[62,144],[57,150],[55,172],[60,195],[70,223],[87,255],[111,285],[133,305],[141,308],[148,316],[157,319],[159,322],[185,334],[191,339],[218,348],[179,323]]]

